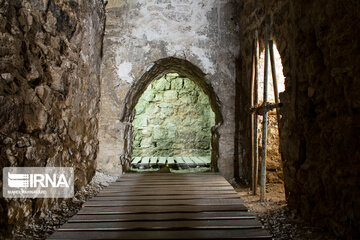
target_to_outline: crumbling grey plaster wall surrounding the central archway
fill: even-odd
[[[126,123],[119,120],[124,99],[155,61],[176,57],[198,66],[217,95],[223,117],[218,129],[218,166],[226,177],[233,177],[235,58],[239,51],[234,10],[234,3],[227,0],[109,1],[99,169],[121,173],[120,157],[127,154],[128,137]]]

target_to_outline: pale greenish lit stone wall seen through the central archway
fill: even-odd
[[[140,97],[133,120],[133,157],[210,156],[215,116],[192,80],[168,73]]]

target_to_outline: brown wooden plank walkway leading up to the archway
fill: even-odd
[[[176,160],[176,158],[175,158]],[[130,173],[49,239],[271,239],[219,174]]]

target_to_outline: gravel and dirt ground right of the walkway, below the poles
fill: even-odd
[[[274,240],[335,240],[331,233],[316,228],[287,207],[282,184],[267,186],[266,201],[260,202],[259,195],[253,196],[247,187],[236,186],[235,190],[245,201],[245,205],[254,213],[272,235]],[[257,191],[260,193],[260,189]]]

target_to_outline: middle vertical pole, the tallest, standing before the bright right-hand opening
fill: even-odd
[[[269,67],[269,35],[270,35],[270,15],[266,15],[265,19],[265,67],[264,67],[264,101],[263,106],[267,105],[268,95],[268,67]],[[263,113],[263,131],[262,131],[262,162],[261,162],[261,188],[260,201],[265,200],[266,185],[266,143],[267,143],[267,111]]]

